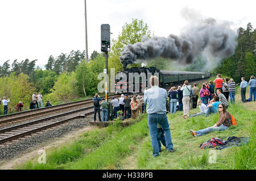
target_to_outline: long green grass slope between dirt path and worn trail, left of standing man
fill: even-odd
[[[147,136],[146,117],[127,128],[110,125],[82,133],[79,138],[56,150],[47,150],[46,164],[37,159],[28,161],[15,169],[104,169],[115,168],[115,163],[130,154],[139,141]]]

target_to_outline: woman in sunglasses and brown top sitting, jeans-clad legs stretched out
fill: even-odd
[[[224,103],[218,104],[218,114],[220,115],[220,119],[218,122],[213,125],[213,127],[201,129],[199,131],[190,130],[192,136],[202,136],[212,131],[224,131],[228,129],[232,125],[231,115],[228,111],[226,111],[226,106]]]

